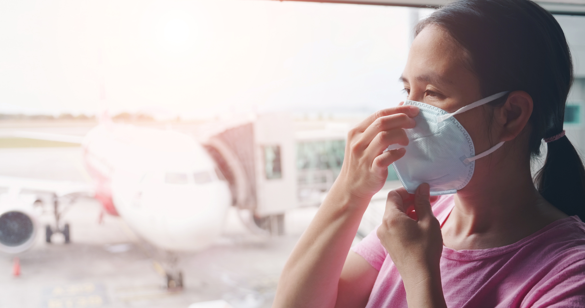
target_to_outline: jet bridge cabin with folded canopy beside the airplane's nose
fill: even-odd
[[[232,205],[257,232],[284,233],[284,212],[297,206],[294,125],[287,114],[225,124],[204,141],[229,183]]]

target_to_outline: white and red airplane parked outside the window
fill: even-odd
[[[229,184],[204,147],[180,132],[106,123],[84,138],[17,132],[15,136],[80,142],[95,185],[69,181],[0,177],[0,251],[20,253],[39,232],[35,204],[53,205],[54,225],[45,226],[70,241],[64,205],[94,197],[109,215],[121,216],[147,242],[166,251],[197,251],[222,232],[232,205]],[[81,139],[81,140],[80,140]],[[177,282],[179,285],[182,282]]]

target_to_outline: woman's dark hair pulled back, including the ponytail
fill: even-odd
[[[429,24],[448,31],[470,55],[483,97],[510,90],[532,97],[529,147],[532,157],[540,155],[542,139],[563,131],[573,82],[569,47],[555,17],[529,0],[457,0],[421,20],[415,33]],[[566,136],[547,144],[536,187],[552,205],[585,220],[583,162]]]

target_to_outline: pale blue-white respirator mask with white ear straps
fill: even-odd
[[[465,187],[473,176],[475,160],[494,152],[504,141],[476,155],[472,138],[453,115],[499,99],[506,93],[480,99],[454,113],[419,101],[405,101],[404,105],[417,106],[420,112],[413,118],[416,126],[404,129],[409,141],[404,146],[406,153],[392,164],[404,188],[414,194],[420,184],[428,183],[431,195],[446,195]],[[388,150],[401,147],[391,145]]]

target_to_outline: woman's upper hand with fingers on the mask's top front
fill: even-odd
[[[393,144],[408,145],[404,128],[414,128],[412,118],[418,112],[418,107],[410,105],[379,110],[351,129],[343,166],[331,190],[369,201],[386,182],[388,166],[406,152],[404,148],[384,150]]]

